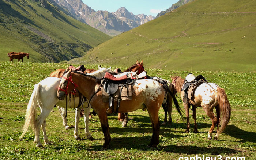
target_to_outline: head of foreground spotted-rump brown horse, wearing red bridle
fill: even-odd
[[[57,91],[57,97],[59,100],[64,100],[65,96],[76,88],[76,84],[72,81],[71,71],[71,69],[67,68],[61,77],[60,85]],[[69,85],[70,82],[73,85]]]

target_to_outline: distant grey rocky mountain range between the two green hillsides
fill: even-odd
[[[129,31],[150,20],[154,16],[144,14],[134,15],[125,7],[119,8],[116,12],[95,11],[82,0],[54,0],[58,5],[69,12],[75,19],[90,25],[110,36],[119,35]]]

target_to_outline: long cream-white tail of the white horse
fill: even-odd
[[[27,105],[27,111],[25,116],[25,124],[23,126],[23,133],[20,136],[22,138],[27,132],[27,128],[29,128],[29,124],[31,125],[33,131],[36,129],[36,119],[37,119],[37,100],[40,93],[41,84],[34,85],[34,91],[30,97],[29,104]]]

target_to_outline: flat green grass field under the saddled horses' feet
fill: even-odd
[[[132,64],[130,64],[132,65]],[[129,67],[128,65],[127,67]],[[219,136],[218,141],[207,140],[210,119],[202,108],[197,109],[199,133],[184,133],[185,124],[173,112],[171,126],[161,126],[160,144],[157,150],[147,149],[152,135],[152,127],[147,112],[129,113],[127,128],[122,128],[117,117],[109,117],[112,141],[110,148],[99,151],[103,145],[103,132],[99,119],[93,116],[89,129],[94,141],[85,139],[83,118],[80,119],[79,134],[82,139],[75,140],[74,128],[65,130],[57,108],[46,119],[46,132],[50,145],[43,148],[33,144],[34,133],[29,128],[23,140],[19,140],[24,124],[26,106],[33,91],[34,84],[45,79],[59,68],[68,64],[56,63],[8,63],[0,62],[0,159],[166,159],[178,160],[179,157],[245,157],[245,160],[256,159],[256,73],[207,72],[193,71],[194,75],[202,74],[208,81],[225,88],[231,103],[231,120]],[[114,67],[114,66],[112,66]],[[86,68],[97,68],[87,65]],[[121,68],[125,69],[125,68]],[[147,69],[150,76],[159,76],[170,80],[170,75],[185,77],[189,71]],[[181,105],[181,99],[177,97]],[[182,106],[182,105],[181,105]],[[182,107],[184,110],[184,108]],[[38,107],[38,115],[40,113]],[[68,110],[68,124],[75,125],[75,112]],[[159,119],[162,123],[164,112],[161,108]],[[191,115],[191,123],[193,122]],[[193,131],[193,125],[191,127]],[[42,131],[41,131],[41,142]],[[233,159],[234,160],[234,159]]]

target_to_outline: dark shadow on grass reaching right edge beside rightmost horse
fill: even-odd
[[[252,129],[254,128],[253,126],[251,126]],[[237,138],[237,139],[242,139],[238,142],[253,142],[256,143],[256,139],[253,138],[255,137],[256,133],[255,132],[248,132],[248,131],[244,131],[238,127],[236,127],[236,125],[232,124],[232,125],[227,125],[226,127],[226,134]]]

